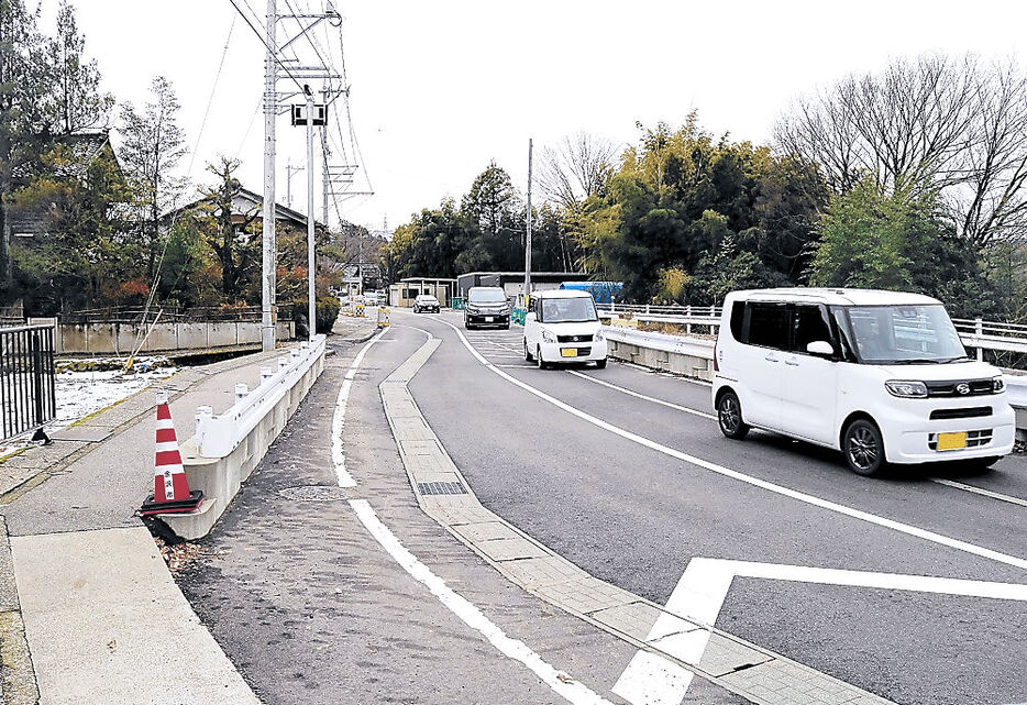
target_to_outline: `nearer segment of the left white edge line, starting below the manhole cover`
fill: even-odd
[[[419,583],[431,591],[439,602],[456,615],[465,625],[479,632],[500,653],[509,659],[523,663],[553,692],[575,705],[606,704],[609,701],[597,695],[583,683],[571,679],[567,674],[557,671],[542,660],[538,653],[518,639],[511,639],[496,626],[481,609],[466,598],[455,593],[441,577],[431,572],[421,563],[399,539],[378,519],[374,509],[365,499],[351,499],[350,506],[356,513],[364,528],[382,544],[389,555]]]

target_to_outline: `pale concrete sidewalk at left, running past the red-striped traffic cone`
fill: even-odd
[[[373,328],[347,321],[340,332],[361,339]],[[259,368],[280,354],[163,381],[179,441],[194,434],[197,406],[229,408],[234,385],[256,386]],[[10,535],[0,530],[4,704],[259,702],[133,516],[153,492],[153,414],[150,389],[74,427],[79,440],[0,463],[0,517]]]

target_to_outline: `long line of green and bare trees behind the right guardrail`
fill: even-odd
[[[798,98],[765,145],[695,113],[638,129],[621,148],[577,134],[543,151],[535,269],[621,280],[639,302],[815,285],[1027,315],[1027,77],[1013,63],[894,60]],[[393,277],[521,269],[524,220],[493,163],[459,203],[397,229],[384,263]]]

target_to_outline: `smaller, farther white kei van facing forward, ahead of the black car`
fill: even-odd
[[[606,335],[588,291],[554,289],[531,295],[524,316],[524,360],[540,367],[570,362],[606,366]]]

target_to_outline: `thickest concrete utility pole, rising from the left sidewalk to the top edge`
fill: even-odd
[[[275,65],[278,12],[276,0],[267,0],[267,56],[264,59],[264,230],[261,277],[261,346],[274,350],[275,335],[275,115],[278,109]]]

